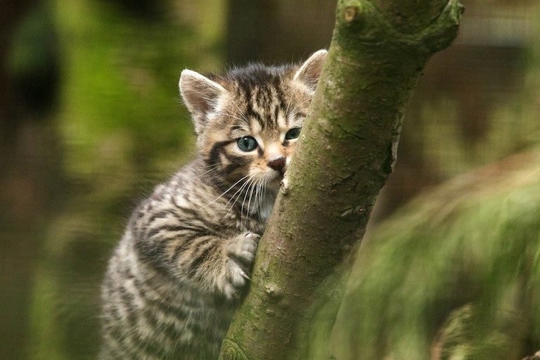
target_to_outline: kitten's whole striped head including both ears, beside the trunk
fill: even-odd
[[[180,91],[209,174],[278,188],[300,136],[326,50],[301,65],[248,65],[205,77],[184,70]]]

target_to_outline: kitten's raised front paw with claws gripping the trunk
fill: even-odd
[[[261,236],[257,233],[243,233],[236,236],[229,244],[227,248],[229,274],[227,283],[224,285],[224,293],[229,300],[238,299],[250,280],[249,274],[260,238]]]

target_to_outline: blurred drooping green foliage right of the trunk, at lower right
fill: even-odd
[[[332,340],[314,326],[310,359],[328,359],[328,349],[335,359],[522,359],[540,348],[539,288],[536,148],[379,224],[361,245]]]

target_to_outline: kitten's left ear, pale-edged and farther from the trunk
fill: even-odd
[[[226,90],[217,82],[187,69],[181,72],[178,85],[184,103],[194,115],[195,131],[199,133],[205,125],[202,123],[205,115],[214,110],[219,97],[226,94]]]

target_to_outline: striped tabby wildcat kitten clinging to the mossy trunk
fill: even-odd
[[[198,156],[131,215],[103,283],[101,359],[217,359],[325,58],[181,73]]]

